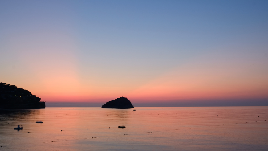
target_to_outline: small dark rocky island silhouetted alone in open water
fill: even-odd
[[[134,108],[131,102],[126,97],[120,97],[115,100],[111,100],[102,105],[101,108]]]

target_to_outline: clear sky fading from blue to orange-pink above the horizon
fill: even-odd
[[[267,8],[257,0],[0,0],[0,82],[47,103],[268,103]]]

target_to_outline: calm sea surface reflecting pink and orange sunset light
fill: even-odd
[[[14,130],[18,125],[23,130]],[[0,145],[19,151],[267,151],[268,107],[2,110]]]

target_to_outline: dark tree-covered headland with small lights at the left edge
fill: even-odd
[[[40,100],[28,90],[0,82],[0,109],[46,108]]]

